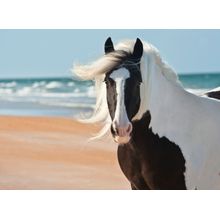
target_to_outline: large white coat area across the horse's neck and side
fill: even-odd
[[[219,189],[220,102],[188,93],[154,70],[148,104],[152,131],[180,147],[188,189]]]

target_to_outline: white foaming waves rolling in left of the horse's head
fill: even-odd
[[[92,82],[66,78],[0,80],[0,99],[71,108],[93,108],[95,91]]]

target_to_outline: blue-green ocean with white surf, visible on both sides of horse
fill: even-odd
[[[220,86],[220,73],[182,74],[184,88],[201,94]],[[94,83],[73,78],[0,79],[0,115],[79,117],[95,105]]]

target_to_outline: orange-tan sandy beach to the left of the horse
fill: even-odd
[[[68,118],[0,117],[0,189],[130,189],[110,137]]]

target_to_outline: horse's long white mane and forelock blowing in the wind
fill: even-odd
[[[128,54],[133,52],[135,41],[127,40],[123,41],[115,46],[115,52],[111,52],[104,55],[97,61],[89,65],[74,65],[73,74],[78,76],[82,80],[95,80],[96,89],[96,106],[93,115],[90,118],[84,119],[86,123],[102,123],[103,129],[97,134],[95,138],[105,135],[111,125],[111,119],[107,106],[106,99],[106,86],[103,82],[105,74],[116,67],[122,59]],[[148,82],[151,76],[151,62],[160,68],[160,72],[167,78],[167,80],[174,84],[180,85],[177,74],[175,71],[164,62],[159,54],[159,51],[149,43],[143,42],[144,53],[141,59],[141,74],[142,74],[142,86],[141,86],[141,106],[139,112],[135,118],[140,118],[147,108],[147,92]],[[125,51],[125,52],[123,52]]]

